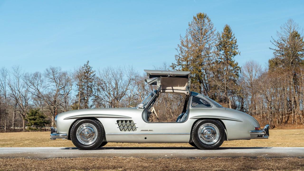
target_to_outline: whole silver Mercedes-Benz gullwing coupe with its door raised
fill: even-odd
[[[199,149],[216,149],[223,141],[268,138],[266,125],[261,129],[254,117],[221,106],[207,96],[191,92],[190,72],[144,70],[156,85],[137,107],[81,109],[56,116],[57,129],[50,138],[66,138],[83,150],[102,147],[107,142],[189,143]],[[162,93],[185,96],[182,112],[174,113],[175,122],[152,122],[151,108]]]

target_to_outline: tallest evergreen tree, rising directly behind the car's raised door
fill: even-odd
[[[176,49],[176,63],[171,67],[181,71],[191,71],[191,89],[199,93],[209,92],[209,72],[213,61],[212,49],[215,30],[211,19],[205,13],[197,13],[188,24],[185,37]]]

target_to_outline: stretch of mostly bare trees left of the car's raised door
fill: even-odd
[[[152,90],[133,67],[95,71],[89,61],[70,72],[50,66],[28,73],[13,66],[1,68],[0,74],[0,123],[5,131],[54,126],[55,116],[69,110],[136,106]]]

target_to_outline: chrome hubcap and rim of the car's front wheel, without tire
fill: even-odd
[[[81,124],[76,131],[77,140],[84,145],[92,144],[97,136],[98,132],[96,127],[90,123]]]

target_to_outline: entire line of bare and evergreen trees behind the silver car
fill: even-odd
[[[156,69],[191,71],[192,91],[253,115],[262,124],[304,124],[301,27],[289,19],[276,37],[271,39],[273,56],[267,67],[256,61],[239,66],[234,58],[240,51],[231,27],[226,24],[217,31],[209,16],[198,13],[180,36],[175,62]],[[44,72],[29,73],[20,66],[3,67],[0,129],[54,126],[55,116],[68,110],[134,107],[155,88],[144,79],[132,66],[95,70],[89,61],[73,71],[50,66]],[[180,96],[164,95],[155,111],[173,121],[181,105]]]

